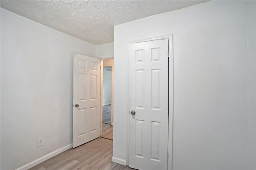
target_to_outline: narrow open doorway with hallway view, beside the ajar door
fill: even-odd
[[[101,63],[101,133],[100,136],[113,140],[113,82],[114,59],[104,59]]]

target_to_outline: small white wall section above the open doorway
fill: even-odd
[[[95,56],[100,59],[113,58],[114,42],[95,45]]]

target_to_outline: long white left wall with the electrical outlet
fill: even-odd
[[[95,45],[1,8],[1,49],[1,169],[9,170],[72,144],[73,53],[94,57]]]

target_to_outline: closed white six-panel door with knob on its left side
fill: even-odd
[[[167,170],[168,40],[129,45],[129,166]]]

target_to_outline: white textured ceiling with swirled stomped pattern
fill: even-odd
[[[0,0],[1,8],[98,45],[114,41],[114,25],[206,0]]]

